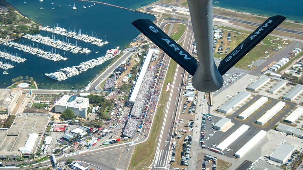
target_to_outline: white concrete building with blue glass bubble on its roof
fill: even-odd
[[[62,113],[64,110],[70,109],[74,115],[86,118],[88,105],[88,98],[64,95],[56,102],[55,112]]]

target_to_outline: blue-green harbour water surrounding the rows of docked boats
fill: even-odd
[[[120,46],[120,49],[130,44],[130,42],[136,38],[137,35],[140,34],[139,31],[131,24],[132,21],[140,18],[148,18],[153,20],[152,15],[143,14],[140,12],[129,11],[121,8],[115,8],[108,5],[102,5],[96,3],[75,1],[75,5],[77,7],[76,10],[73,10],[74,2],[72,0],[44,0],[43,2],[39,2],[39,0],[6,0],[9,4],[11,4],[16,10],[18,10],[22,15],[25,15],[29,18],[32,18],[37,23],[42,26],[58,26],[64,27],[66,29],[70,29],[71,31],[79,31],[81,29],[82,34],[94,35],[98,38],[102,38],[105,40],[105,36],[108,44],[103,45],[102,47],[98,47],[96,45],[85,43],[82,41],[77,41],[77,45],[89,48],[92,52],[89,54],[72,54],[68,51],[65,51],[66,57],[68,60],[66,61],[50,61],[43,58],[39,58],[38,56],[25,53],[23,51],[19,51],[13,47],[8,47],[3,44],[0,45],[0,50],[8,50],[13,53],[19,53],[23,58],[27,60],[25,63],[15,63],[13,62],[14,68],[8,69],[7,75],[2,74],[4,70],[2,70],[0,74],[0,86],[4,87],[4,82],[6,83],[6,87],[12,84],[12,79],[15,77],[29,76],[33,77],[34,80],[39,83],[39,88],[42,88],[42,83],[44,83],[43,88],[47,88],[47,83],[49,83],[48,88],[59,88],[62,89],[71,89],[72,86],[86,85],[90,80],[99,73],[99,70],[102,70],[106,67],[110,60],[105,62],[102,65],[94,67],[93,69],[89,69],[86,72],[82,72],[79,75],[72,76],[67,80],[57,82],[56,80],[52,80],[46,77],[45,73],[52,73],[60,68],[76,66],[84,61],[88,61],[90,59],[94,59],[100,56],[104,56],[106,51],[110,48],[115,48],[116,46]],[[26,3],[24,3],[26,2]],[[53,3],[53,4],[52,4]],[[61,7],[58,7],[60,5]],[[69,6],[71,5],[71,6]],[[89,5],[93,5],[88,7]],[[83,8],[86,6],[86,8]],[[43,9],[40,9],[43,8]],[[54,8],[54,10],[52,9]],[[35,18],[37,16],[38,18]],[[52,37],[51,33],[47,33],[45,31],[41,31],[40,34],[44,36]],[[62,37],[60,35],[55,34],[56,38],[62,39],[66,41],[66,37]],[[72,44],[76,44],[76,40],[73,38],[68,38],[68,41]],[[44,46],[42,44],[38,44],[36,42],[29,41],[28,39],[21,38],[20,40],[16,40],[16,42],[24,42],[31,44],[31,46],[40,47],[46,51],[53,51],[60,53],[64,56],[64,51],[55,49],[49,46]],[[96,54],[96,51],[99,53]],[[3,60],[3,59],[2,59]],[[8,61],[7,61],[8,62]],[[1,71],[1,70],[0,70]],[[59,84],[57,86],[57,83]],[[54,86],[52,86],[54,84]],[[66,88],[66,84],[67,88]]]

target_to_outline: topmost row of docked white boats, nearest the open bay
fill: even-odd
[[[72,37],[72,38],[74,38],[76,40],[79,40],[79,41],[83,41],[83,42],[86,42],[86,43],[91,43],[91,44],[98,45],[99,47],[108,43],[108,41],[102,42],[103,40],[97,38],[97,36],[93,37],[93,35],[89,36],[87,34],[81,34],[80,31],[79,31],[79,34],[77,34],[76,31],[67,32],[67,30],[65,28],[60,28],[58,26],[55,27],[55,28],[49,28],[49,26],[47,26],[47,27],[41,28],[41,30],[51,32],[51,33],[55,33],[55,34],[59,34],[59,35],[63,35],[63,36],[69,37],[69,38]]]

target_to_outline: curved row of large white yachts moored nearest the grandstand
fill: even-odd
[[[105,61],[112,59],[119,53],[120,53],[120,50],[119,50],[119,46],[118,46],[115,49],[108,50],[104,57],[98,57],[96,59],[85,61],[77,66],[61,68],[60,70],[57,70],[54,73],[50,73],[50,74],[45,73],[45,76],[47,76],[51,79],[57,80],[57,81],[66,80],[69,77],[78,75],[79,73],[82,73],[83,71],[86,71],[89,68],[96,67],[96,66],[104,63]]]

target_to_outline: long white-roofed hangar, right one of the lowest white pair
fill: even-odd
[[[235,156],[237,158],[241,158],[244,156],[251,148],[254,147],[264,136],[266,136],[266,131],[261,130],[258,132],[251,140],[249,140],[244,146],[242,146],[241,149],[239,149],[236,153]]]

